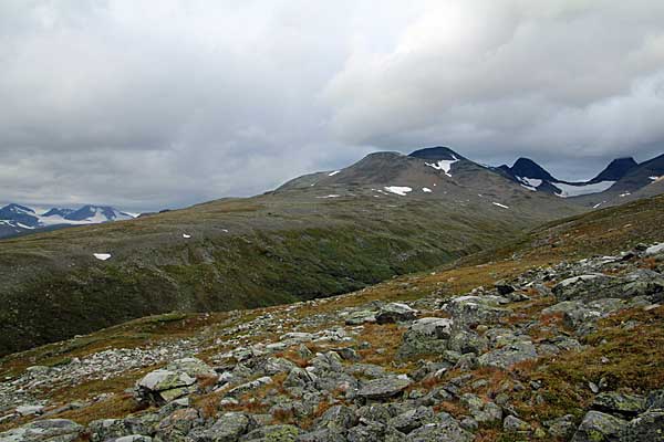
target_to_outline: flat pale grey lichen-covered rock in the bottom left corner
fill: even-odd
[[[74,442],[82,433],[83,427],[76,422],[46,419],[0,433],[0,442]]]

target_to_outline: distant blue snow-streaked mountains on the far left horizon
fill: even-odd
[[[80,209],[51,208],[46,211],[10,203],[0,208],[0,238],[48,228],[97,224],[131,220],[134,214],[121,212],[110,206],[83,206]]]

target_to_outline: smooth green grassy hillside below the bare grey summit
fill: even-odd
[[[270,193],[0,241],[0,355],[165,312],[351,292],[551,218],[487,202],[371,197]],[[96,252],[113,257],[96,261]]]

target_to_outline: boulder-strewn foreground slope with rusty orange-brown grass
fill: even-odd
[[[346,295],[8,356],[0,441],[662,440],[663,203]]]

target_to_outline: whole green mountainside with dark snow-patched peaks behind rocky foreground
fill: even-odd
[[[447,147],[375,152],[256,197],[6,239],[0,354],[152,314],[312,299],[427,271],[552,220],[664,192],[653,179],[664,156],[632,162],[570,183],[526,159],[498,168]]]

